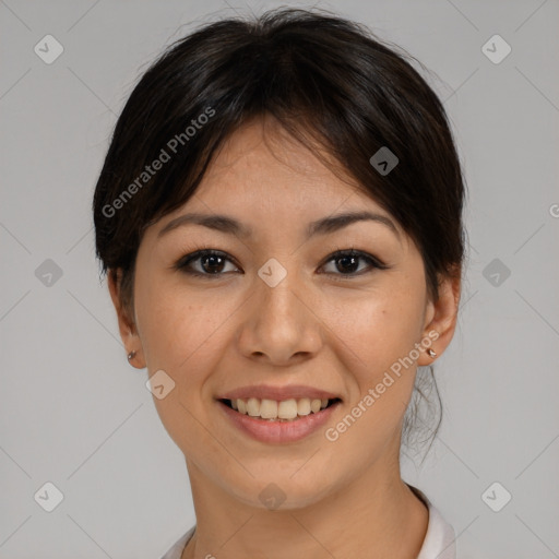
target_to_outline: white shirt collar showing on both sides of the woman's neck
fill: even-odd
[[[454,528],[442,518],[441,513],[435,508],[427,496],[406,484],[421,499],[429,509],[429,524],[425,535],[424,545],[416,559],[456,559],[456,535]],[[192,526],[183,534],[175,545],[160,557],[160,559],[180,559],[185,547],[194,534],[195,526]]]

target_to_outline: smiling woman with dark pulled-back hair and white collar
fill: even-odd
[[[355,23],[226,20],[145,72],[93,210],[191,483],[164,559],[455,557],[400,448],[454,333],[464,190],[441,103]]]

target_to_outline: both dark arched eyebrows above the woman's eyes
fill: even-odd
[[[317,219],[316,222],[311,222],[307,227],[307,238],[310,238],[314,235],[328,235],[330,233],[334,233],[344,227],[347,227],[353,223],[362,221],[372,221],[389,227],[395,234],[399,240],[401,240],[400,231],[394,225],[394,222],[392,222],[392,219],[385,215],[372,212],[346,212],[330,217],[323,217],[322,219]],[[235,235],[241,238],[248,238],[252,236],[252,229],[250,227],[247,227],[242,223],[228,215],[188,213],[171,219],[165,227],[163,227],[163,229],[159,230],[157,238],[163,237],[177,227],[182,227],[189,224],[202,225],[203,227],[229,235]]]

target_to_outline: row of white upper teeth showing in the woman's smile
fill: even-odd
[[[276,402],[275,400],[259,400],[249,397],[248,400],[231,400],[231,407],[240,414],[248,414],[251,417],[261,417],[262,419],[285,419],[294,420],[297,417],[309,415],[311,412],[318,414],[328,406],[328,399],[290,399]]]

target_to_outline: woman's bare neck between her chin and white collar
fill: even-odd
[[[188,463],[197,528],[181,559],[415,559],[429,521],[426,506],[401,479],[368,472],[301,508],[267,510],[233,497]],[[383,475],[381,475],[383,474]]]

